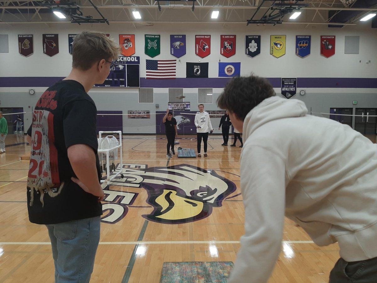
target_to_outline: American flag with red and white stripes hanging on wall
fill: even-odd
[[[146,78],[175,78],[177,60],[147,60]]]

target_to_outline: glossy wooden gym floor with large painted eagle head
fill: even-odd
[[[369,138],[376,142],[375,136]],[[178,146],[196,149],[195,136],[180,136],[178,141],[176,152]],[[207,158],[175,155],[168,160],[163,135],[123,136],[126,176],[110,186],[103,202],[91,282],[159,282],[166,261],[235,261],[244,233],[241,148],[221,143],[220,135],[211,135]],[[20,157],[29,154],[30,146],[23,134],[8,135],[6,145],[6,153],[0,154],[0,282],[52,283],[47,229],[28,220],[29,161]],[[168,182],[148,181],[156,176]],[[221,189],[212,191],[214,186]],[[190,194],[195,200],[185,202],[184,195]],[[316,246],[302,228],[286,220],[282,252],[268,282],[328,282],[338,251],[336,244]]]

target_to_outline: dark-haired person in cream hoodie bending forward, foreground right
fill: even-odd
[[[338,242],[330,283],[377,282],[377,145],[254,75],[231,80],[217,103],[244,135],[245,235],[228,283],[268,280],[284,215],[317,245]]]

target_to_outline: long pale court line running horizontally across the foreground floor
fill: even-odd
[[[153,244],[239,244],[240,241],[133,241],[100,242],[100,245],[153,245]],[[282,241],[283,244],[314,244],[313,241]],[[50,242],[0,242],[0,245],[51,245]]]

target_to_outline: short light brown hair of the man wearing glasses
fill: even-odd
[[[72,50],[72,67],[89,70],[94,63],[102,59],[114,61],[121,51],[119,44],[106,34],[95,31],[83,31],[76,35]]]

